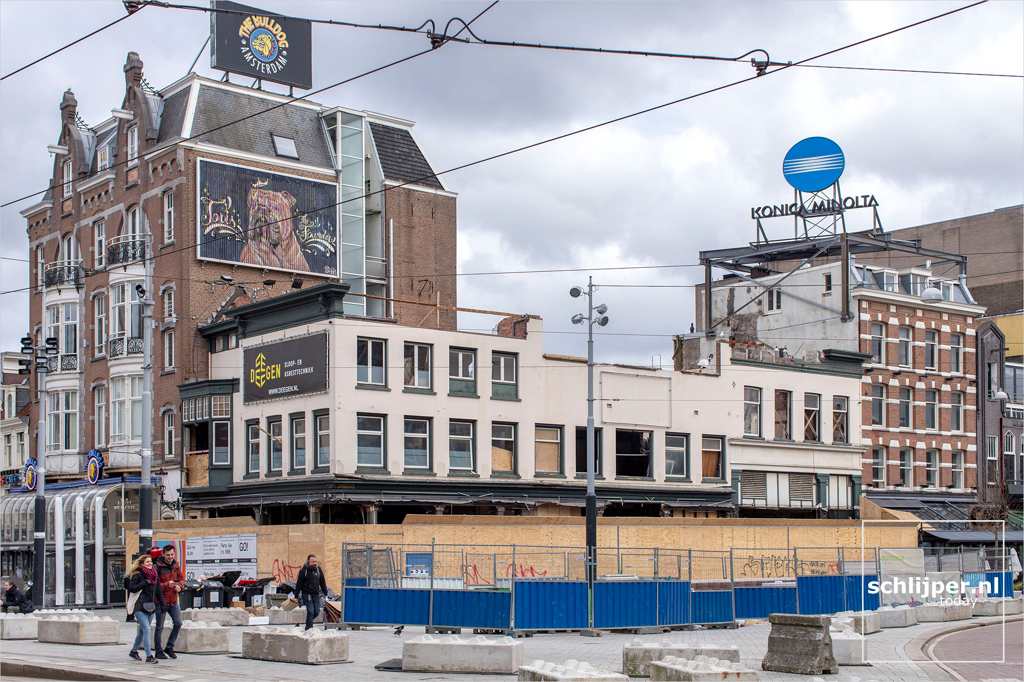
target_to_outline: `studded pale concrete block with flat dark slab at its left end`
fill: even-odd
[[[503,673],[514,675],[522,666],[522,642],[511,637],[480,635],[435,638],[421,635],[401,647],[401,669],[446,673]]]

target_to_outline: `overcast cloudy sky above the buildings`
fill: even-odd
[[[253,2],[295,16],[417,27],[469,20],[487,2]],[[799,61],[968,2],[511,2],[474,25],[483,39]],[[124,14],[121,2],[0,3],[3,75]],[[812,63],[1021,74],[1024,3],[988,2]],[[205,12],[146,7],[0,83],[0,202],[45,188],[61,93],[94,125],[120,106],[136,51],[160,88],[185,75],[209,34]],[[423,35],[313,26],[313,87],[427,47]],[[197,73],[219,78],[204,52]],[[437,171],[753,75],[712,62],[450,43],[311,97],[417,122]],[[273,86],[271,86],[273,87]],[[1022,79],[788,69],[539,148],[442,176],[459,192],[459,271],[681,265],[754,238],[750,207],[792,200],[786,150],[830,137],[846,194],[873,194],[887,229],[1022,202]],[[0,212],[0,290],[28,285],[26,222]],[[850,212],[851,229],[869,212]],[[792,230],[767,221],[770,237]],[[790,232],[792,234],[792,232]],[[585,355],[567,294],[586,272],[463,276],[460,305],[545,319],[549,353]],[[693,321],[700,268],[594,271],[611,323],[601,361],[671,365],[671,334]],[[647,284],[659,287],[612,287]],[[0,299],[0,349],[28,328],[28,295]],[[460,314],[460,326],[496,318]],[[799,334],[795,334],[799,335]],[[653,359],[657,362],[657,359]]]

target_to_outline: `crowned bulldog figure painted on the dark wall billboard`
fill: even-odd
[[[287,191],[272,191],[262,186],[249,190],[249,241],[239,261],[266,268],[310,272],[299,240],[295,238],[295,197]]]

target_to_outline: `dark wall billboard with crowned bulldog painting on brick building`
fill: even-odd
[[[198,257],[286,272],[338,274],[338,188],[199,160]]]

